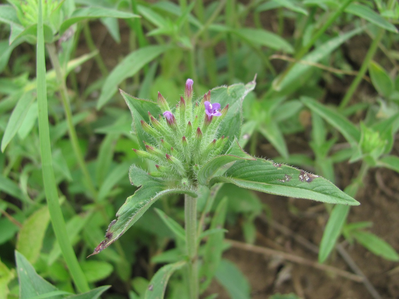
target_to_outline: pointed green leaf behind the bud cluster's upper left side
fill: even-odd
[[[152,115],[158,115],[160,112],[158,105],[155,102],[152,102],[151,100],[143,100],[141,98],[135,98],[134,96],[127,94],[123,90],[120,90],[120,93],[122,94],[124,100],[126,101],[126,104],[130,109],[130,112],[132,112],[132,118],[133,118],[132,126],[134,132],[136,132],[137,139],[143,140],[150,144],[154,144],[154,138],[150,134],[144,132],[140,120],[144,121],[148,120],[148,111]],[[146,147],[143,142],[139,142],[139,144],[143,150],[146,150]]]

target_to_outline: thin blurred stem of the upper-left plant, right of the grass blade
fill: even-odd
[[[85,160],[83,159],[82,151],[79,147],[79,140],[77,138],[76,130],[75,130],[75,127],[73,126],[71,104],[69,102],[68,91],[67,91],[67,87],[65,85],[65,80],[64,80],[64,76],[63,76],[63,73],[61,70],[61,66],[59,64],[59,59],[58,59],[58,55],[57,55],[57,52],[55,49],[55,45],[53,43],[47,44],[47,51],[49,53],[51,64],[53,65],[53,68],[55,70],[55,74],[57,76],[58,83],[61,85],[60,94],[61,94],[61,99],[62,99],[62,103],[63,103],[64,110],[65,110],[65,117],[66,117],[67,124],[68,124],[69,138],[71,139],[72,148],[75,153],[79,167],[81,168],[81,170],[83,172],[83,176],[85,177],[87,187],[88,187],[91,195],[93,196],[93,198],[96,199],[97,198],[97,190],[94,187],[93,181],[92,181],[89,171],[86,167],[86,163],[85,163]]]

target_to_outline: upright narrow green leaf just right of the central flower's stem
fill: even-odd
[[[221,228],[225,224],[226,212],[227,212],[227,197],[224,197],[215,210],[215,214],[212,217],[210,230]],[[222,259],[224,250],[223,239],[224,231],[216,232],[211,234],[205,244],[205,253],[203,255],[203,264],[199,269],[199,277],[205,277],[201,280],[200,290],[204,291],[207,289],[212,281],[215,272],[217,271],[219,264]]]

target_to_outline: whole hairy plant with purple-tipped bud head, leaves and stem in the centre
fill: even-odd
[[[207,233],[203,231],[203,219],[221,183],[325,203],[359,204],[318,175],[255,158],[243,151],[239,145],[243,137],[242,102],[254,88],[255,80],[246,85],[217,87],[193,101],[193,81],[188,79],[184,96],[180,97],[176,108],[171,108],[159,92],[158,101],[154,102],[134,98],[121,90],[132,113],[132,128],[138,140],[142,141],[141,149],[134,151],[155,164],[150,172],[136,165],[130,167],[130,181],[138,190],[120,207],[117,219],[109,225],[105,240],[95,248],[93,254],[98,254],[115,242],[163,195],[184,194],[185,228],[158,211],[176,238],[184,241],[184,258],[160,268],[148,287],[149,298],[163,297],[168,278],[183,267],[188,268],[190,298],[198,298],[211,281],[220,262],[220,258],[215,256],[220,257],[222,253],[222,250],[212,251],[212,242],[215,242],[215,235],[223,237],[224,231],[217,228],[217,224],[223,223],[218,217],[222,217],[223,209],[225,212],[225,201],[221,201],[216,208]],[[199,224],[198,198],[205,201]],[[206,239],[201,245],[205,248],[205,254],[199,259],[202,239]],[[201,284],[198,277],[201,278]]]

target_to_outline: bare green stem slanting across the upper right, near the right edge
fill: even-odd
[[[352,98],[353,94],[355,93],[356,89],[358,88],[358,85],[359,85],[361,79],[363,79],[363,76],[366,73],[367,68],[369,67],[369,63],[375,54],[375,51],[377,51],[378,44],[381,41],[381,38],[383,37],[384,32],[385,32],[385,30],[383,28],[379,28],[377,35],[374,37],[374,39],[369,47],[369,50],[367,51],[366,57],[364,58],[363,63],[361,64],[358,75],[356,75],[356,77],[352,81],[348,91],[346,92],[344,98],[342,99],[342,102],[339,106],[340,110],[345,108],[345,106],[348,104],[348,102]]]

